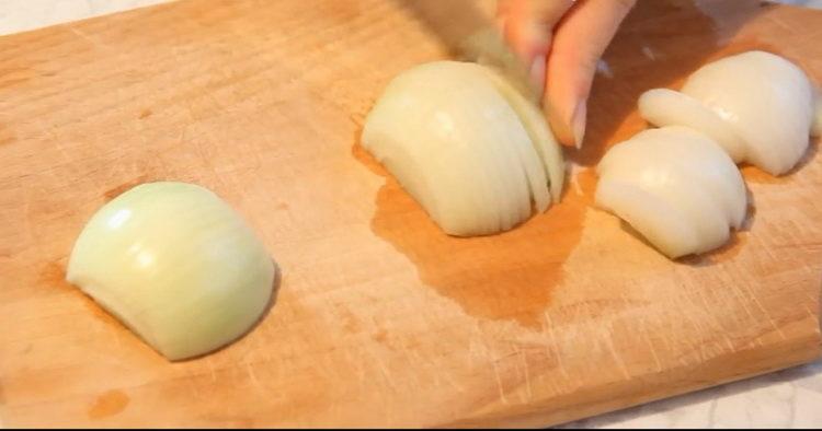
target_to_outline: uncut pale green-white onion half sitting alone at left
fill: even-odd
[[[271,300],[274,263],[214,193],[137,186],[103,206],[75,244],[67,280],[170,360],[240,337]]]

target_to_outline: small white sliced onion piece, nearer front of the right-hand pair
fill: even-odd
[[[745,185],[733,161],[686,127],[650,129],[616,144],[597,173],[597,206],[671,258],[721,246],[745,219]]]

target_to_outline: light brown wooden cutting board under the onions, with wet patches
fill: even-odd
[[[395,0],[182,1],[0,38],[0,421],[10,427],[547,426],[822,352],[822,162],[743,170],[731,244],[669,261],[591,206],[639,93],[775,50],[822,78],[822,13],[641,1],[596,79],[561,205],[442,234],[356,147],[387,81],[443,58]],[[205,185],[256,229],[278,300],[169,363],[64,281],[133,185]]]

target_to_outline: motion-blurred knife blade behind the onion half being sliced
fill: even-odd
[[[526,100],[541,94],[528,68],[511,49],[477,0],[398,0],[448,47],[453,55],[496,69]]]

